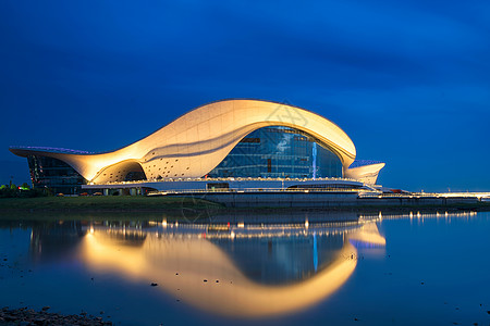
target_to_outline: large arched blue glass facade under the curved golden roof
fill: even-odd
[[[287,127],[248,134],[209,177],[342,177],[342,162],[311,136]]]

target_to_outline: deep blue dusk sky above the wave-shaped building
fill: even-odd
[[[338,124],[378,183],[490,191],[490,1],[1,1],[0,184],[9,146],[134,142],[229,98]]]

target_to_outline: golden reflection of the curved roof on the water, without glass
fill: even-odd
[[[290,314],[317,304],[334,293],[354,272],[357,250],[350,239],[376,244],[385,242],[376,224],[364,224],[360,229],[344,234],[343,248],[318,273],[293,284],[264,285],[249,279],[220,247],[200,234],[182,237],[173,233],[156,235],[138,230],[145,235],[140,243],[121,246],[121,238],[117,237],[121,233],[97,230],[84,237],[79,246],[84,264],[137,283],[158,283],[158,290],[203,311],[245,317]],[[229,235],[236,236],[234,230]],[[175,277],[176,272],[179,277]],[[219,286],[203,286],[203,279],[209,279],[210,275],[220,280]]]

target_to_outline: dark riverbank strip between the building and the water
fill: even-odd
[[[86,218],[97,216],[103,218],[120,218],[121,214],[127,216],[145,213],[149,220],[160,218],[163,215],[174,218],[181,217],[206,217],[216,214],[236,214],[243,212],[281,213],[291,211],[338,211],[338,212],[387,212],[404,213],[412,211],[420,212],[457,212],[457,211],[490,211],[490,202],[474,203],[448,203],[440,204],[387,204],[382,200],[370,201],[369,204],[345,205],[345,206],[302,206],[302,208],[226,208],[212,201],[199,198],[182,197],[44,197],[44,198],[4,198],[0,199],[0,218],[13,216],[49,216],[70,213],[71,217]]]

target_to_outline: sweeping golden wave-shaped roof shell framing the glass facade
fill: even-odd
[[[311,135],[340,158],[344,170],[354,162],[354,143],[334,123],[304,109],[259,100],[223,100],[199,106],[112,152],[10,150],[21,156],[40,154],[62,160],[95,183],[123,180],[135,163],[148,178],[200,177],[215,168],[242,138],[266,126],[285,126]]]

